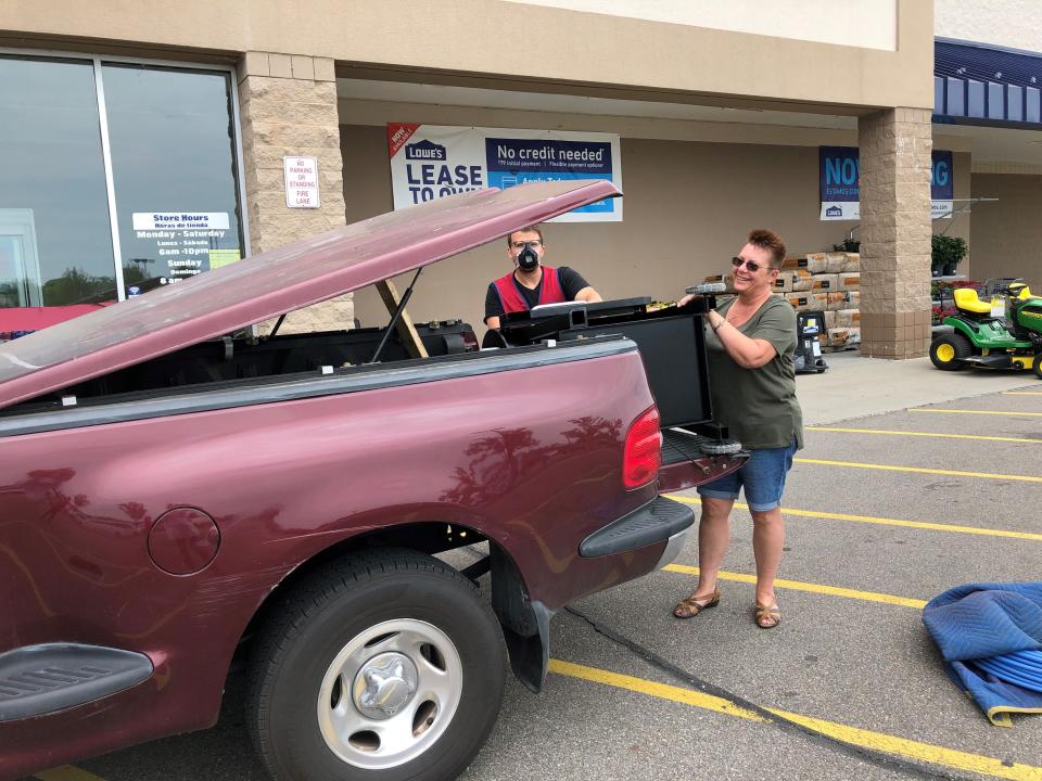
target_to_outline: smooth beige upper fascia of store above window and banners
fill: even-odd
[[[932,0],[901,2],[897,23],[898,51],[882,51],[495,0],[407,9],[383,0],[181,0],[175,7],[5,0],[0,46],[54,46],[60,36],[115,42],[130,55],[278,52],[329,57],[341,68],[448,71],[513,85],[552,81],[579,92],[626,88],[658,100],[697,93],[929,106]],[[511,51],[510,30],[537,34],[538,55]]]

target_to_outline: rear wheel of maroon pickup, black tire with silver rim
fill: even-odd
[[[495,615],[471,581],[415,551],[317,571],[283,598],[258,643],[246,721],[277,781],[454,779],[499,715]]]

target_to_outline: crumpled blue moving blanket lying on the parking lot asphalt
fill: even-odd
[[[992,724],[1011,727],[1011,713],[1042,713],[1042,691],[1001,680],[979,665],[992,657],[1000,665],[1016,663],[1042,650],[1042,582],[957,586],[927,603],[923,623],[949,677]]]

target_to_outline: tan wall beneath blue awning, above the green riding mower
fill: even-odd
[[[974,174],[973,193],[999,199],[974,208],[973,279],[1022,277],[1042,291],[1042,176]]]

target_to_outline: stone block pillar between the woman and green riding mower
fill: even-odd
[[[861,354],[918,358],[930,344],[930,110],[860,117],[857,144]]]

